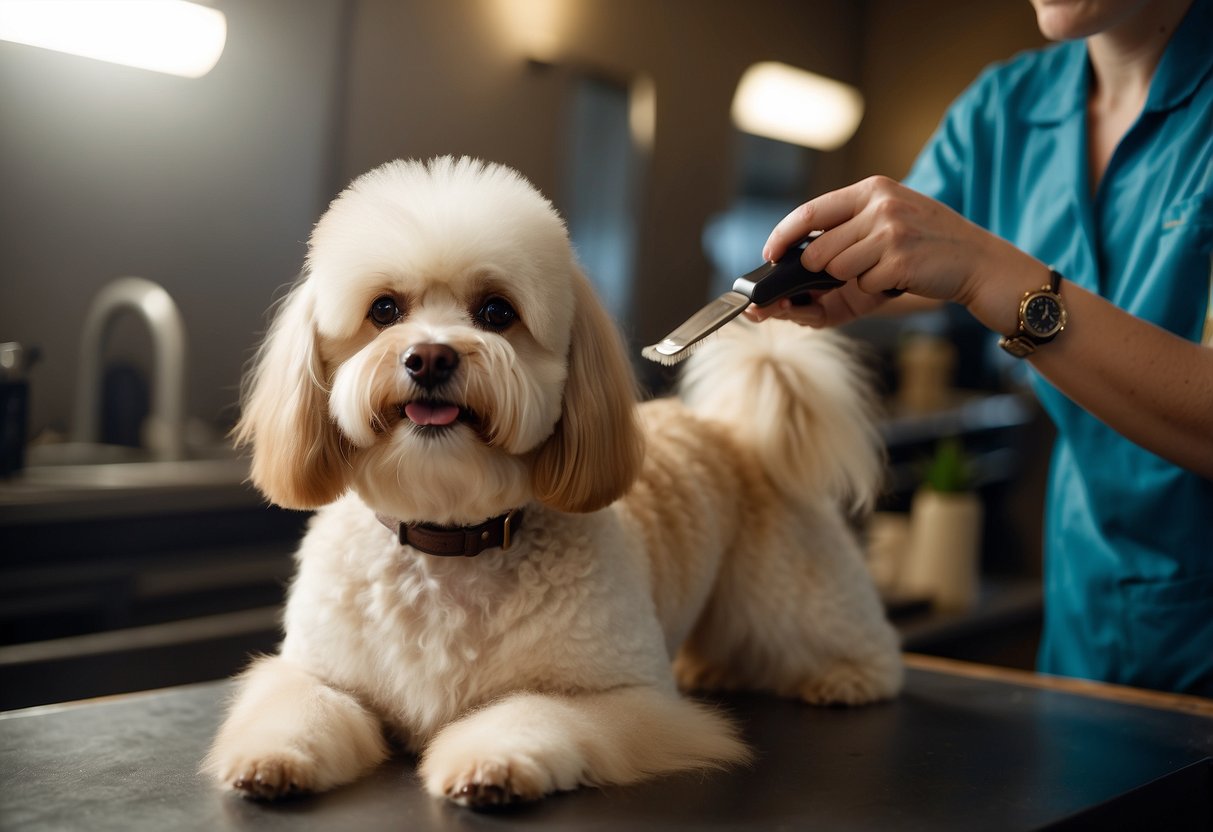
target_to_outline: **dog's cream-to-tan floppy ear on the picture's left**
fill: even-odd
[[[245,377],[238,446],[252,448],[252,483],[284,508],[318,508],[346,488],[347,465],[329,420],[312,292],[284,298]]]

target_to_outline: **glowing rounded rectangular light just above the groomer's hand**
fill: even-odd
[[[862,118],[859,90],[785,63],[753,64],[733,96],[739,130],[819,150],[844,144]]]

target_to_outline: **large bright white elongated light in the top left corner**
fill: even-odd
[[[223,12],[184,0],[0,0],[0,40],[186,78],[223,53]]]

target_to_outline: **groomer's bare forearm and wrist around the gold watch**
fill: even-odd
[[[1014,331],[1018,298],[1048,280],[1015,261],[967,304],[983,324]],[[1059,391],[1127,439],[1213,479],[1213,349],[1131,315],[1067,280],[1069,323],[1027,360]]]

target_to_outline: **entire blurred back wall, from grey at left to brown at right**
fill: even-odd
[[[626,321],[645,343],[707,291],[700,238],[733,198],[729,102],[746,67],[784,61],[867,97],[856,137],[816,156],[808,198],[904,173],[981,65],[1037,42],[1026,0],[212,1],[229,41],[199,80],[0,44],[0,341],[42,349],[35,431],[68,427],[80,321],[110,278],[169,287],[189,331],[189,412],[229,422],[266,307],[353,176],[467,153],[559,205],[568,68],[656,85]],[[524,33],[551,30],[563,69],[526,63],[519,11]]]

